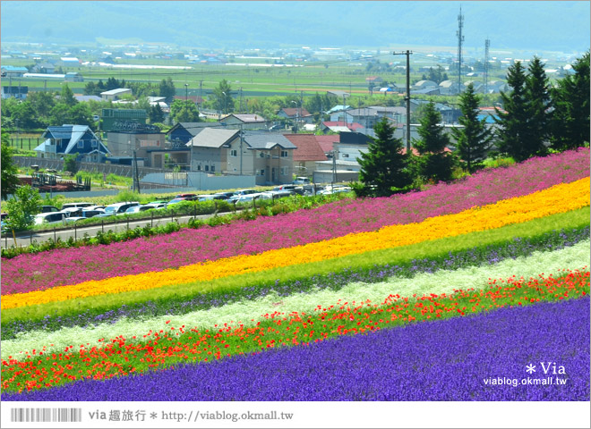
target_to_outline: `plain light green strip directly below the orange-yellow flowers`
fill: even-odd
[[[38,306],[19,307],[3,310],[2,322],[15,320],[40,320],[46,315],[76,315],[93,309],[108,311],[122,305],[132,305],[147,301],[167,299],[190,299],[204,292],[224,293],[244,287],[271,284],[280,279],[282,282],[304,280],[313,275],[335,273],[344,269],[364,269],[374,265],[399,265],[415,258],[441,257],[450,252],[467,248],[485,247],[502,243],[516,237],[534,238],[548,231],[565,228],[579,228],[589,224],[589,207],[583,207],[568,213],[552,214],[527,223],[517,223],[495,230],[476,231],[441,240],[431,240],[398,248],[388,248],[366,252],[360,255],[338,257],[330,260],[304,265],[291,265],[274,268],[259,273],[246,273],[215,279],[209,282],[193,282],[166,287],[123,292],[116,295],[72,299],[70,301],[51,302]]]

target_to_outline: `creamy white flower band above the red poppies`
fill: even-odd
[[[395,277],[379,283],[356,282],[336,291],[317,290],[312,293],[295,293],[289,297],[270,294],[260,299],[236,302],[184,315],[161,315],[147,320],[125,318],[115,324],[99,324],[94,328],[72,327],[56,332],[23,332],[14,340],[2,341],[2,358],[7,359],[12,356],[21,360],[26,357],[26,351],[40,350],[43,346],[46,347],[45,352],[61,352],[67,346],[73,346],[73,350],[76,350],[82,344],[90,348],[105,344],[99,342],[100,339],[109,340],[119,335],[123,335],[127,340],[136,335],[139,341],[143,340],[142,336],[150,330],[171,332],[171,327],[179,328],[183,325],[185,331],[193,327],[198,327],[200,330],[210,329],[216,324],[225,323],[252,325],[263,320],[265,314],[274,312],[284,315],[292,312],[309,314],[318,306],[339,307],[345,302],[361,303],[369,299],[373,304],[379,305],[390,294],[412,297],[413,294],[440,295],[460,289],[482,289],[487,286],[489,279],[506,279],[514,274],[525,279],[536,277],[540,273],[556,275],[561,269],[581,269],[591,265],[589,246],[589,240],[586,240],[570,248],[553,252],[535,252],[530,257],[507,259],[493,265],[419,273],[413,278]],[[178,330],[172,332],[178,332]]]

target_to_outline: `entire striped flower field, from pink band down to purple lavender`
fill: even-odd
[[[3,400],[589,400],[589,187],[581,148],[3,260]]]

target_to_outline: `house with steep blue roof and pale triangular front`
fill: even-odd
[[[102,163],[111,155],[88,125],[47,127],[41,139],[45,140],[34,149],[39,158],[62,159],[73,154],[80,161]]]

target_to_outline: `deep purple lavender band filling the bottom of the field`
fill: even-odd
[[[589,299],[502,308],[2,399],[588,401]]]

